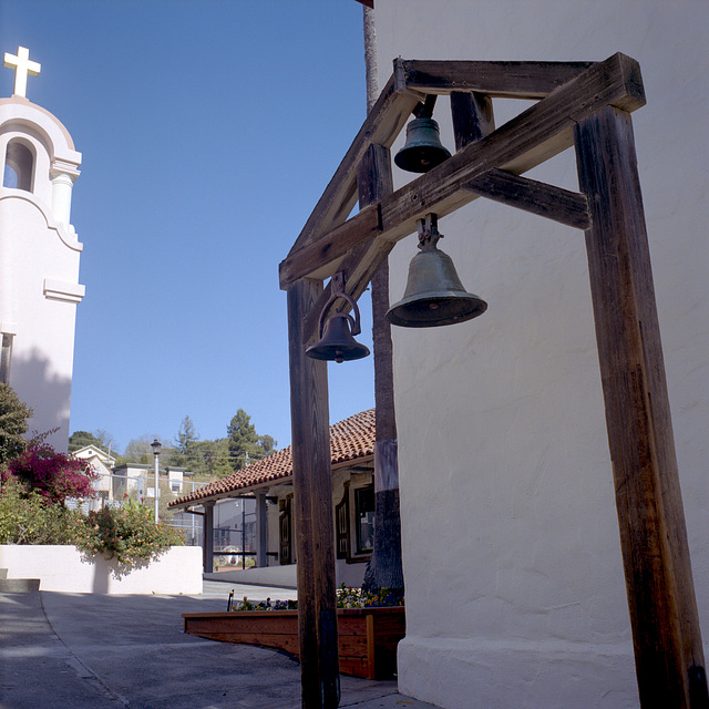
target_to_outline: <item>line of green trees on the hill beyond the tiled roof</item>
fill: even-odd
[[[195,474],[196,480],[225,477],[249,463],[273,453],[278,445],[271,435],[256,432],[251,417],[239,409],[226,429],[226,438],[199,440],[192,419],[186,415],[179,424],[174,440],[160,439],[161,467],[184,467]],[[115,450],[112,436],[102,429],[93,433],[74,431],[69,436],[69,452],[73,453],[85,445],[95,445],[116,459],[116,465],[137,463],[152,465],[154,454],[151,443],[155,436],[147,434],[132,439],[123,453]]]

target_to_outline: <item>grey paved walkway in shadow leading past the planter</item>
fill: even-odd
[[[185,635],[182,614],[292,589],[204,582],[199,596],[0,594],[0,709],[300,709],[287,655]],[[424,709],[395,681],[341,676],[340,707]]]

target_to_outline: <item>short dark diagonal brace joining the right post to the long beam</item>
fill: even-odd
[[[586,195],[555,187],[503,169],[491,169],[469,182],[465,189],[576,229],[590,226]]]

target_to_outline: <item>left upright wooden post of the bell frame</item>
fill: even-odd
[[[322,284],[288,288],[290,420],[298,564],[298,633],[304,709],[339,705],[335,525],[327,362],[306,357],[302,320]]]

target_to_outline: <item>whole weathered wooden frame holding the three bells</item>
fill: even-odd
[[[393,191],[389,150],[430,94],[451,97],[456,153]],[[494,129],[492,99],[537,102]],[[638,63],[394,61],[394,71],[280,264],[290,342],[302,706],[337,707],[335,532],[325,362],[305,356],[331,289],[357,299],[417,220],[479,197],[585,234],[643,707],[709,706],[630,113]],[[580,192],[522,175],[575,147]],[[357,199],[359,213],[349,218]],[[332,309],[347,308],[339,299]]]

